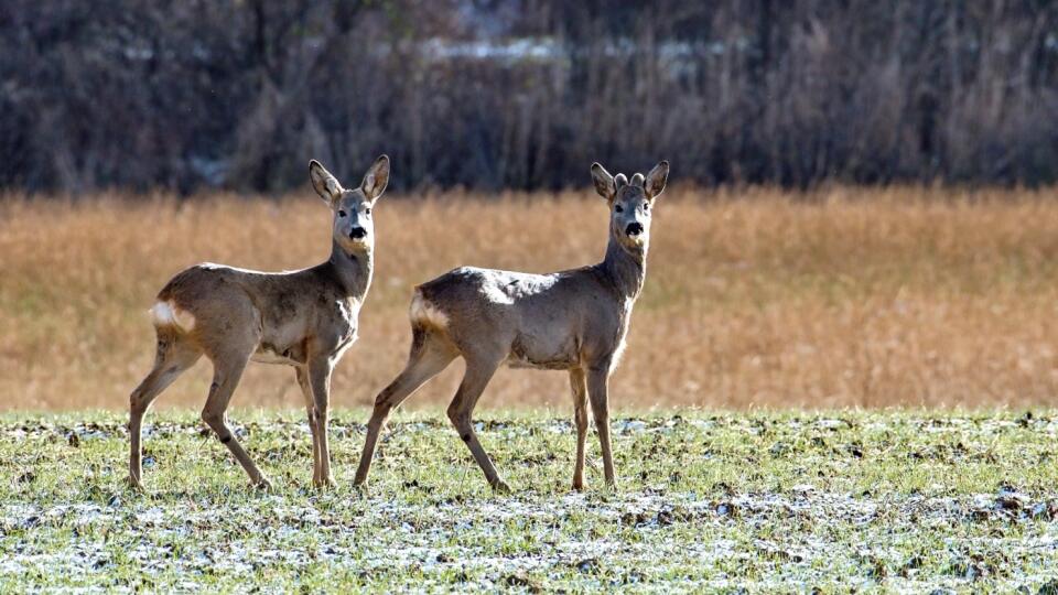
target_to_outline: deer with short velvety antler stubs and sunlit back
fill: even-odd
[[[510,487],[482,447],[472,414],[504,364],[569,372],[576,426],[573,489],[584,489],[589,400],[605,480],[615,487],[609,376],[620,360],[631,310],[644,286],[651,212],[668,174],[668,161],[630,181],[624,174],[611,175],[598,163],[592,165],[595,191],[609,207],[609,240],[597,264],[549,274],[463,267],[415,286],[408,363],[375,399],[354,486],[365,489],[379,432],[392,409],[462,357],[466,369],[447,416],[494,490],[509,493]]]

